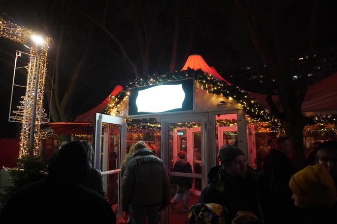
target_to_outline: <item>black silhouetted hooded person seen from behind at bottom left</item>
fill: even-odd
[[[0,213],[0,223],[116,223],[105,198],[85,188],[89,169],[80,141],[63,145],[47,177],[20,189]]]

